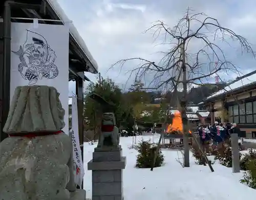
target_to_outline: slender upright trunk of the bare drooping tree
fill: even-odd
[[[185,60],[185,41],[182,44],[182,74],[183,74],[183,95],[181,99],[181,114],[183,123],[183,142],[184,142],[184,167],[189,167],[189,145],[188,145],[188,120],[186,115],[187,101],[187,77],[186,77],[186,60]]]

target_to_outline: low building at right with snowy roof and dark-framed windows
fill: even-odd
[[[203,104],[215,121],[237,123],[244,137],[256,137],[256,71],[207,97]]]

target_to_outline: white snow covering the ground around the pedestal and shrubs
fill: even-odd
[[[137,136],[138,140],[152,139],[158,141],[158,136]],[[132,137],[121,137],[120,144],[123,156],[126,156],[126,168],[123,170],[124,200],[236,200],[255,199],[256,190],[241,183],[243,173],[232,173],[231,168],[216,162],[211,172],[208,166],[195,164],[190,154],[190,167],[182,168],[176,161],[176,150],[162,149],[165,156],[162,167],[150,169],[135,168],[135,149],[131,149]],[[87,163],[92,159],[95,145],[84,143],[84,189],[87,198],[92,197],[92,171],[87,170]],[[181,156],[179,156],[181,158]]]

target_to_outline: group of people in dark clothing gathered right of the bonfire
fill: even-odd
[[[198,134],[202,144],[209,144],[212,141],[214,146],[221,143],[229,143],[231,134],[238,134],[240,137],[240,128],[236,123],[219,123],[215,122],[212,125],[203,126],[199,124]]]

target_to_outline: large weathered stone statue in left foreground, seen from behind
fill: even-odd
[[[0,143],[1,200],[86,198],[74,183],[72,141],[61,130],[64,114],[54,87],[16,88],[3,129],[9,137]]]

